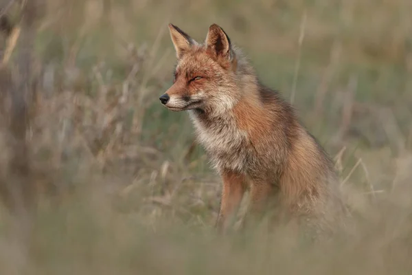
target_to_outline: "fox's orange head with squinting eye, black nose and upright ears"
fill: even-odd
[[[227,34],[209,27],[203,43],[169,24],[177,65],[172,87],[159,100],[172,111],[226,111],[235,103],[237,60]]]

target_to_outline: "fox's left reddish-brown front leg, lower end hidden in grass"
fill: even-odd
[[[224,232],[236,216],[246,190],[244,175],[232,171],[222,172],[223,188],[216,228]]]

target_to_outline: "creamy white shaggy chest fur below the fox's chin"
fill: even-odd
[[[211,163],[222,170],[242,171],[247,166],[247,133],[240,130],[229,115],[216,118],[215,123],[206,124],[190,111],[198,142],[207,151]]]

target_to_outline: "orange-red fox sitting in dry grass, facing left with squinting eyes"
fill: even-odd
[[[190,115],[197,141],[222,179],[215,227],[227,232],[244,194],[244,225],[270,209],[329,234],[345,212],[334,164],[279,91],[264,85],[249,59],[216,23],[199,43],[168,24],[176,52],[172,86],[159,97]]]

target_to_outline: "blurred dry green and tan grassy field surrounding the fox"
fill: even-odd
[[[46,2],[29,140],[42,192],[23,245],[1,211],[1,274],[411,274],[410,0]],[[327,249],[284,228],[216,236],[220,179],[187,114],[158,100],[169,22],[198,40],[218,23],[293,101],[334,158],[356,236]]]

